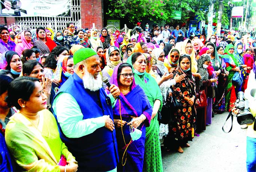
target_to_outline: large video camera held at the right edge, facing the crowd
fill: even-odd
[[[237,117],[237,122],[240,125],[250,124],[254,122],[254,117],[250,112],[249,101],[244,98],[244,93],[242,91],[237,93],[237,100],[235,101],[235,106],[240,109],[238,114],[232,112],[232,115]]]

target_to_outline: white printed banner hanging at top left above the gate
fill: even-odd
[[[1,0],[0,16],[71,17],[71,0]]]

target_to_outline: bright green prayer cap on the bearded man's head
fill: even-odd
[[[73,56],[74,65],[94,55],[97,55],[97,53],[90,48],[79,49],[74,53]]]

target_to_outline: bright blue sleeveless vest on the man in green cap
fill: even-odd
[[[74,73],[61,86],[56,96],[61,92],[69,93],[76,99],[83,113],[83,119],[110,115],[113,120],[112,106],[107,105],[107,94],[103,88],[98,91],[85,89],[82,79]],[[56,118],[56,114],[54,116]],[[62,132],[60,124],[58,122],[57,124],[61,140],[76,157],[78,171],[110,171],[116,168],[118,152],[115,130],[110,131],[103,126],[89,135],[80,138],[67,138]]]

